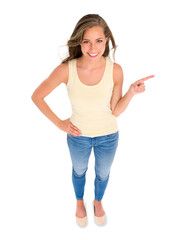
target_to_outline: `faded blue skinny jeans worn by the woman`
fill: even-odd
[[[84,196],[86,171],[92,147],[95,156],[95,200],[102,200],[118,140],[119,131],[98,137],[74,136],[67,133],[67,144],[72,160],[72,183],[77,200],[82,200]]]

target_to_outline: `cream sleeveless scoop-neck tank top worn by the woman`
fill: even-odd
[[[67,92],[71,102],[70,121],[85,137],[98,137],[118,131],[117,118],[110,109],[113,91],[113,62],[106,57],[106,66],[101,81],[85,85],[78,77],[76,59],[69,64]]]

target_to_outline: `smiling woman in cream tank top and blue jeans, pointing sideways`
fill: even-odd
[[[60,130],[67,133],[72,160],[72,182],[77,200],[76,220],[87,223],[84,186],[92,147],[95,155],[95,221],[105,223],[102,198],[119,140],[117,117],[135,94],[145,91],[144,80],[133,83],[122,96],[122,67],[109,57],[109,41],[114,53],[114,37],[105,20],[97,14],[82,17],[68,41],[69,56],[34,91],[32,100]],[[114,55],[114,54],[113,54]],[[59,84],[65,83],[72,116],[59,119],[44,101]]]

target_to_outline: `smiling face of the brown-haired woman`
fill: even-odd
[[[98,60],[105,52],[105,44],[108,38],[105,37],[101,26],[88,28],[83,36],[81,51],[87,60]]]

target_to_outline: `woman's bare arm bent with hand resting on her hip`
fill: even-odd
[[[81,135],[81,131],[70,122],[69,118],[66,120],[58,118],[44,100],[44,98],[62,82],[65,83],[68,81],[68,75],[68,63],[60,64],[53,70],[49,77],[35,89],[31,98],[39,110],[59,129],[71,135],[79,136]]]

